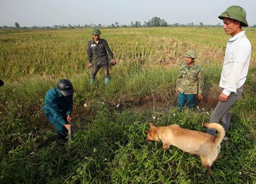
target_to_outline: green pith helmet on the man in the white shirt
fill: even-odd
[[[232,18],[234,20],[239,20],[241,22],[241,26],[247,27],[248,23],[246,21],[246,12],[240,6],[231,6],[226,9],[220,16],[220,19],[223,18]]]

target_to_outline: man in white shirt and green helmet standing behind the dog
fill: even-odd
[[[230,124],[232,104],[241,96],[246,80],[251,44],[245,35],[243,27],[247,27],[246,12],[240,6],[231,6],[220,16],[224,22],[226,34],[232,37],[227,42],[226,53],[221,73],[220,87],[222,93],[219,103],[211,113],[210,123],[218,123],[222,118],[222,126],[227,131]],[[207,133],[215,135],[215,129],[208,129]]]

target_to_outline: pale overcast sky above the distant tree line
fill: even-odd
[[[0,26],[130,25],[154,16],[168,24],[216,25],[229,6],[246,10],[249,25],[256,25],[255,0],[0,0]]]

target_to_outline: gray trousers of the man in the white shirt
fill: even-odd
[[[243,86],[237,89],[237,94],[232,92],[226,102],[219,101],[214,111],[210,114],[210,123],[219,123],[222,117],[222,126],[227,131],[230,125],[231,107],[233,103],[241,96],[242,91]],[[207,133],[215,135],[216,129],[208,128]]]

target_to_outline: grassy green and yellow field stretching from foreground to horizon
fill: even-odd
[[[249,73],[213,176],[198,156],[146,143],[144,129],[154,122],[206,132],[203,124],[218,102],[229,39],[224,30],[101,29],[117,65],[109,86],[100,71],[92,87],[86,53],[90,31],[0,30],[2,183],[256,182],[255,29],[246,29],[252,45]],[[196,62],[204,68],[204,100],[197,111],[178,112],[175,82],[188,49],[197,51]],[[41,109],[46,91],[61,78],[70,79],[75,88],[75,132],[65,145],[56,141]]]

